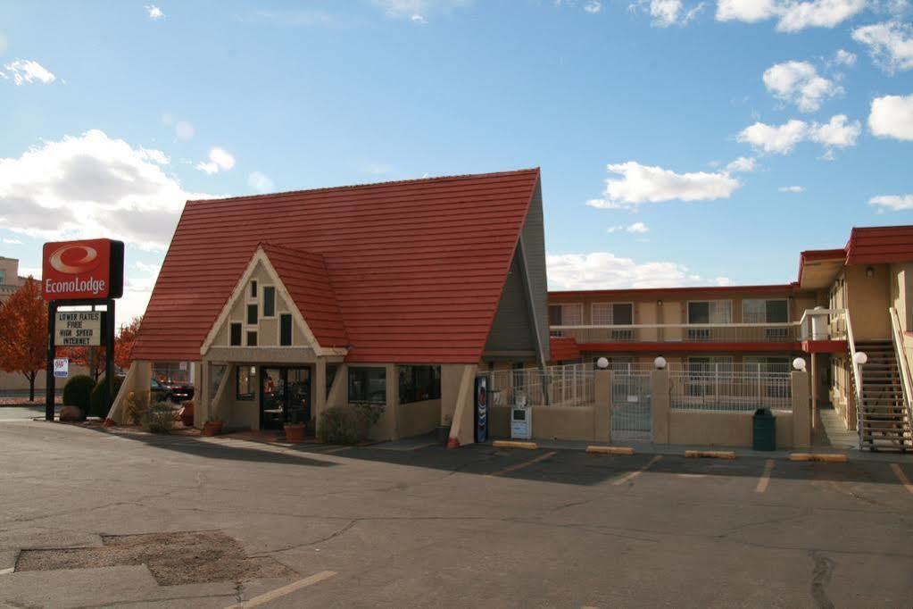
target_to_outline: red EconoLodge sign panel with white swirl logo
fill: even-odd
[[[41,295],[46,300],[119,299],[123,295],[123,243],[87,239],[46,243]]]

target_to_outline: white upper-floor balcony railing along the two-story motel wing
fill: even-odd
[[[593,342],[799,342],[845,340],[845,311],[806,310],[785,323],[646,323],[551,326],[552,336]]]

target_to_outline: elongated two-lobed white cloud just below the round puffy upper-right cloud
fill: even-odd
[[[836,114],[824,124],[792,119],[782,125],[756,122],[740,131],[739,142],[750,143],[756,150],[771,154],[789,154],[804,141],[820,143],[827,149],[855,146],[862,133],[862,123],[850,122],[845,114]]]

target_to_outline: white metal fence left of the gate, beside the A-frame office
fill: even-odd
[[[488,370],[488,396],[493,406],[579,406],[595,401],[594,370],[588,363],[547,368]]]

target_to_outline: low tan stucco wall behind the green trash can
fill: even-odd
[[[751,446],[753,413],[669,411],[669,444]],[[792,413],[775,412],[777,448],[792,448]]]

